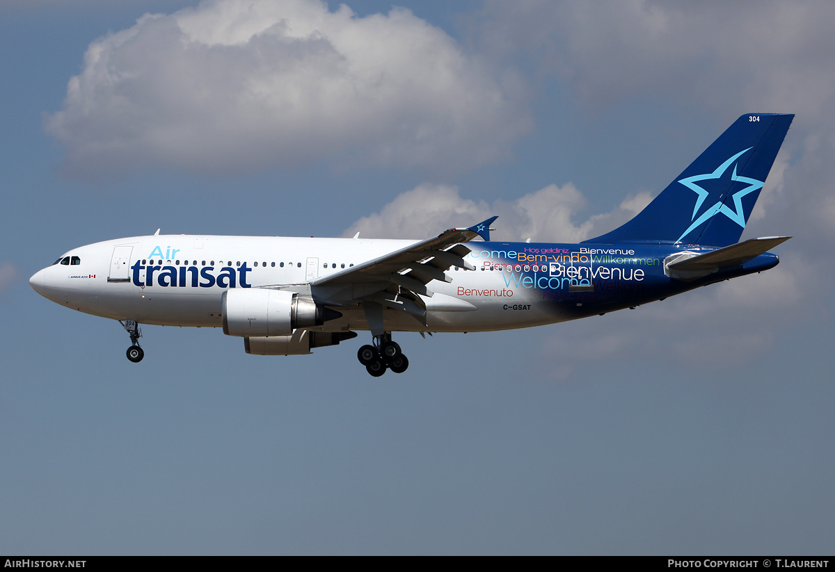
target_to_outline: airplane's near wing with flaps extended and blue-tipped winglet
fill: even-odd
[[[475,270],[473,264],[464,260],[470,249],[463,243],[477,236],[489,240],[490,224],[496,218],[469,228],[450,228],[437,237],[319,278],[311,283],[311,294],[318,303],[329,306],[362,304],[372,332],[382,329],[383,307],[407,312],[425,325],[426,304],[421,295],[435,295],[427,284],[433,280],[452,282],[446,273],[452,266]],[[456,308],[456,302],[445,300],[451,311],[473,309],[465,308],[466,303]],[[378,327],[372,322],[379,322]]]

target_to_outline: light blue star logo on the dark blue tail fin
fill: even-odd
[[[718,213],[724,214],[727,218],[730,218],[733,222],[740,225],[742,228],[745,228],[745,211],[742,208],[742,198],[745,197],[746,194],[753,193],[754,191],[762,188],[763,182],[757,181],[756,178],[741,177],[737,175],[736,164],[733,166],[733,173],[728,173],[728,169],[731,167],[731,163],[734,163],[736,159],[740,158],[742,153],[746,153],[750,150],[751,147],[736,153],[736,155],[729,158],[725,163],[719,165],[713,173],[693,175],[692,177],[682,178],[679,180],[679,183],[696,193],[697,198],[696,206],[693,207],[693,216],[691,218],[693,223],[686,231],[684,231],[679,239],[676,240],[677,243],[680,243],[681,238],[685,238],[695,228],[698,228],[701,223],[715,217]],[[716,183],[701,183],[702,181],[716,181]],[[736,208],[736,210],[731,210],[731,208],[726,204],[728,201],[725,197],[726,193],[730,191],[731,186],[735,182],[746,183],[748,186],[731,195],[731,198],[733,198],[733,206]],[[706,187],[710,188],[710,190],[706,190]],[[696,218],[696,214],[699,213],[699,210],[702,205],[706,203],[706,201],[708,204],[713,202],[712,198],[711,200],[707,200],[711,194],[716,196],[716,203],[709,206],[703,213],[701,213],[701,215],[699,215],[698,218]]]

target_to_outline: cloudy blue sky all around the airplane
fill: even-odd
[[[832,554],[835,8],[347,5],[0,5],[0,552]],[[130,364],[28,287],[157,228],[590,238],[749,112],[797,114],[743,234],[792,235],[777,268],[401,334],[399,376],[367,334],[272,358],[146,326]]]

